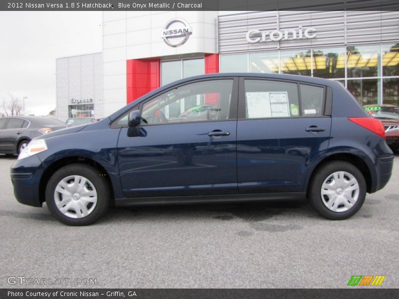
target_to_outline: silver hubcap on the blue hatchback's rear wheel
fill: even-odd
[[[359,193],[357,179],[346,171],[337,171],[327,176],[320,192],[324,205],[334,212],[345,212],[352,208]]]

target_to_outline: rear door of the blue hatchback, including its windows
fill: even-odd
[[[325,86],[308,83],[240,79],[240,193],[303,191],[309,165],[328,148],[331,113],[326,107],[331,105],[326,106],[326,94]]]

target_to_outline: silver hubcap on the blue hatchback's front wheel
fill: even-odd
[[[80,175],[70,175],[57,184],[54,201],[58,210],[69,218],[83,218],[91,214],[97,204],[93,183]]]

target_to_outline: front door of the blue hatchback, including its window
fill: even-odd
[[[118,140],[125,196],[237,193],[237,85],[195,81],[142,103],[140,136]]]

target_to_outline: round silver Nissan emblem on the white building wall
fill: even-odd
[[[171,47],[183,45],[193,33],[189,23],[182,18],[170,20],[161,32],[161,38]]]

